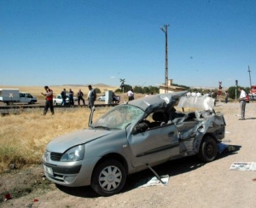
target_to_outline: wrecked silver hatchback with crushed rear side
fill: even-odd
[[[224,138],[224,117],[212,109],[211,97],[185,94],[148,95],[111,108],[93,123],[92,111],[87,129],[49,142],[43,155],[45,176],[68,187],[90,185],[108,196],[119,193],[127,175],[147,168],[154,172],[152,166],[167,160],[197,154],[212,161]],[[183,113],[175,107],[202,110]]]

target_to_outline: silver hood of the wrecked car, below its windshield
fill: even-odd
[[[77,130],[67,135],[55,137],[54,140],[49,142],[46,150],[49,152],[64,153],[71,147],[90,142],[96,138],[107,136],[111,133],[113,133],[112,130]]]

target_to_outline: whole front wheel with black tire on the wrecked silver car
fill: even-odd
[[[108,159],[96,165],[90,186],[97,194],[110,196],[118,194],[125,181],[125,167],[116,159]]]

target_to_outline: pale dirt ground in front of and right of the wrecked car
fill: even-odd
[[[247,104],[246,120],[238,120],[237,102],[217,103],[215,111],[223,113],[226,120],[224,143],[237,150],[219,154],[207,164],[189,157],[154,167],[160,176],[169,175],[166,186],[138,187],[143,178],[153,176],[144,170],[127,179],[122,193],[98,197],[90,187],[45,185],[47,180],[38,165],[1,175],[0,193],[19,192],[20,188],[26,194],[5,201],[1,195],[0,207],[255,207],[256,172],[229,169],[233,162],[256,162],[256,103]],[[24,189],[31,185],[35,188]]]

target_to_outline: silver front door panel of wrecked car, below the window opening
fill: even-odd
[[[128,135],[131,146],[131,163],[134,167],[158,163],[179,154],[177,128],[174,124],[165,124]]]

